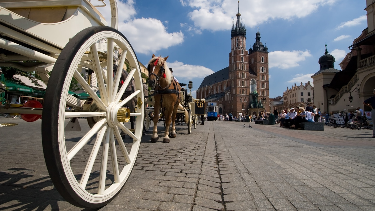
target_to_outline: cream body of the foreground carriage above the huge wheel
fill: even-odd
[[[58,54],[83,28],[107,25],[86,0],[0,1],[1,36]]]

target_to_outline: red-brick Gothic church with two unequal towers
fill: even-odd
[[[246,49],[246,27],[240,16],[238,8],[237,21],[231,30],[229,66],[205,76],[196,98],[216,102],[220,114],[269,112],[268,48],[261,42],[258,30],[254,45]]]

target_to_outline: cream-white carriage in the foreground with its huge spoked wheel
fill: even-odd
[[[0,66],[35,71],[47,85],[43,108],[6,105],[0,113],[42,115],[51,180],[67,201],[85,208],[102,207],[120,192],[138,154],[144,120],[143,112],[122,107],[136,97],[137,111],[144,111],[142,78],[132,46],[117,30],[117,3],[108,4],[111,27],[88,0],[0,0]],[[130,77],[119,85],[125,61]],[[97,85],[83,76],[86,70]],[[131,78],[135,92],[121,100]],[[69,94],[73,83],[92,100]],[[134,130],[126,124],[130,116],[138,117]],[[78,118],[91,123],[86,131],[69,123]],[[123,141],[120,129],[132,141]]]

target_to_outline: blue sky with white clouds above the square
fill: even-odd
[[[119,30],[147,66],[151,55],[166,57],[181,83],[193,81],[193,97],[205,75],[229,65],[231,27],[237,0],[120,0]],[[335,68],[367,27],[366,0],[240,0],[246,48],[255,33],[269,51],[270,97],[292,85],[312,82],[327,50]],[[99,10],[110,20],[108,7]],[[109,21],[108,21],[109,22]]]

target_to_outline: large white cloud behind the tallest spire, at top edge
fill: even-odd
[[[241,1],[240,13],[246,17],[245,24],[254,27],[272,19],[302,18],[315,12],[320,6],[332,5],[337,0],[268,0]],[[180,0],[184,6],[185,1]],[[236,20],[237,4],[233,0],[189,0],[192,9],[189,18],[201,30],[228,30]],[[251,8],[251,9],[247,9]]]

